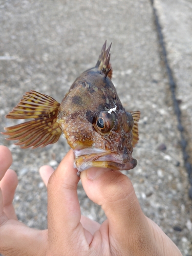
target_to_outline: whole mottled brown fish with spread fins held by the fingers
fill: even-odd
[[[21,148],[45,147],[63,133],[74,152],[78,176],[90,167],[133,169],[140,111],[125,111],[117,95],[111,45],[106,49],[105,40],[96,66],[76,78],[61,103],[46,94],[26,92],[6,118],[33,120],[5,127],[7,140],[18,140],[15,144]]]

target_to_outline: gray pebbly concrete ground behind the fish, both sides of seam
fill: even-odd
[[[176,80],[182,122],[192,155],[192,1],[155,0]],[[128,175],[145,215],[192,255],[192,205],[184,168],[180,132],[154,23],[150,0],[1,1],[0,130],[18,123],[4,116],[29,90],[61,102],[76,77],[95,66],[101,47],[112,42],[113,82],[127,110],[140,110],[138,165]],[[47,227],[47,191],[38,169],[54,168],[69,150],[64,138],[45,148],[22,150],[0,135],[13,154],[19,178],[14,205],[30,227]],[[163,150],[164,148],[164,150]],[[191,161],[191,158],[189,159]],[[100,223],[100,206],[78,184],[83,215]]]

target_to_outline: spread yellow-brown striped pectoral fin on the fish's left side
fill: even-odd
[[[52,97],[35,91],[25,93],[18,105],[6,115],[7,118],[34,120],[5,127],[4,135],[7,140],[18,140],[16,145],[22,148],[38,146],[44,147],[55,143],[62,130],[57,123],[57,114],[60,104]]]

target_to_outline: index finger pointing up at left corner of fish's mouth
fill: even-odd
[[[48,241],[53,250],[56,245],[67,248],[74,236],[75,244],[80,234],[80,239],[84,237],[77,197],[79,177],[73,163],[74,155],[70,150],[48,182]]]

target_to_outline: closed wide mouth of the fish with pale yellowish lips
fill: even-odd
[[[83,148],[73,150],[75,155],[74,167],[78,175],[90,167],[110,168],[114,170],[130,170],[137,165],[137,160],[132,154],[115,154],[100,148]]]

